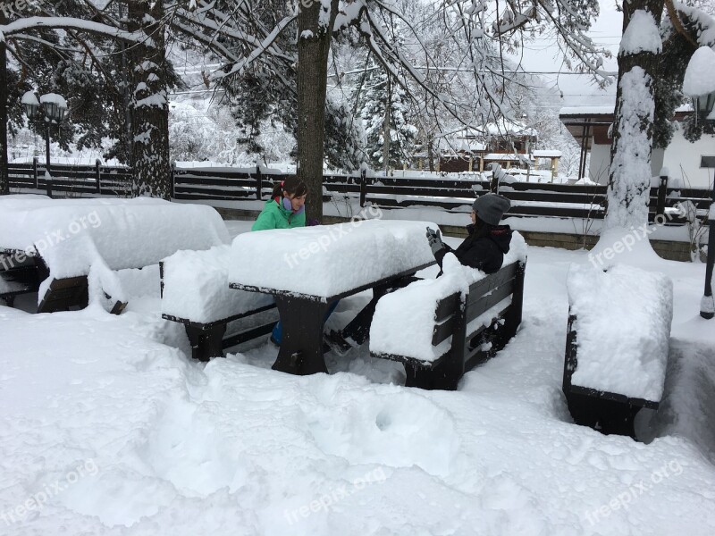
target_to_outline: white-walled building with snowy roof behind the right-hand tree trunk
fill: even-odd
[[[653,151],[651,172],[654,177],[658,176],[660,170],[665,167],[671,180],[681,181],[684,186],[692,188],[710,188],[713,170],[701,168],[700,164],[702,156],[715,155],[715,137],[703,135],[697,142],[690,143],[678,128],[680,121],[692,113],[690,106],[677,109],[673,118],[673,121],[677,122],[676,131],[668,147]],[[610,125],[614,120],[614,106],[561,108],[559,119],[581,147],[579,177],[607,184],[610,167]]]

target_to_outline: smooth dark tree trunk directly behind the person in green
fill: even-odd
[[[323,219],[323,154],[328,54],[338,0],[302,3],[298,14],[298,178],[307,185],[307,219]]]

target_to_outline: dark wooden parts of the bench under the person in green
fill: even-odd
[[[200,252],[196,253],[197,255],[200,254]],[[159,272],[161,274],[161,295],[164,297],[164,262],[159,263]],[[225,289],[229,290],[227,281],[225,282]],[[165,313],[162,314],[162,318],[184,324],[184,329],[191,345],[191,356],[198,361],[206,362],[212,357],[222,357],[225,348],[231,348],[270,333],[275,325],[275,320],[261,323],[257,327],[238,333],[230,333],[226,336],[227,326],[230,322],[253,317],[274,308],[275,303],[262,304],[211,322],[199,322],[196,319]]]

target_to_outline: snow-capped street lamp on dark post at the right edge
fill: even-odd
[[[696,117],[703,121],[715,121],[715,51],[710,46],[698,48],[687,64],[683,80],[683,93],[693,97]],[[712,297],[712,265],[715,264],[715,181],[712,185],[712,205],[708,216],[708,260],[705,265],[705,292],[700,302],[702,318],[715,316],[715,300]]]

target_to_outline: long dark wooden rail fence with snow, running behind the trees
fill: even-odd
[[[44,190],[59,197],[131,197],[131,172],[126,167],[102,165],[52,166],[52,178],[46,180],[45,166],[35,159],[28,164],[9,164],[10,187],[19,190]],[[172,197],[181,200],[241,201],[262,200],[270,196],[273,182],[289,175],[257,168],[183,169],[172,168]],[[601,219],[606,213],[607,190],[601,185],[568,185],[501,180],[486,173],[464,173],[449,177],[367,177],[362,174],[330,174],[323,178],[324,201],[348,200],[360,206],[384,208],[440,207],[457,213],[469,212],[477,195],[498,191],[512,202],[509,216],[547,216],[559,218]],[[690,201],[698,214],[705,214],[711,204],[711,190],[671,188],[668,177],[661,177],[652,187],[649,218],[668,215],[671,223],[685,223],[673,209],[678,202]]]

